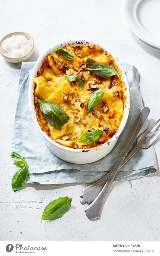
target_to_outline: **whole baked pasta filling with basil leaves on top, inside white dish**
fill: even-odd
[[[121,76],[114,58],[99,46],[66,46],[52,52],[33,79],[41,129],[65,147],[83,149],[107,142],[123,116]]]

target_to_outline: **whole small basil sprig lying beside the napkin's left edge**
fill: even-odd
[[[14,173],[12,178],[12,189],[14,192],[16,192],[23,187],[28,179],[28,165],[24,160],[24,157],[20,156],[16,152],[12,152],[11,157],[15,161],[14,164],[21,167],[17,172]]]

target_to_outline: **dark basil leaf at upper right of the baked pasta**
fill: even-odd
[[[106,64],[98,64],[89,59],[86,59],[85,64],[86,64],[86,69],[89,70],[92,74],[102,76],[102,77],[111,77],[113,75],[117,75],[120,82],[122,83],[122,80],[119,74],[113,67]]]

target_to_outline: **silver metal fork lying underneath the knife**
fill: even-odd
[[[139,137],[137,137],[137,144],[133,150],[126,156],[124,162],[122,163],[121,167],[128,162],[128,160],[140,149],[147,149],[149,148],[156,138],[159,136],[160,131],[156,133],[158,128],[160,127],[160,119],[155,122],[152,126],[150,126],[146,131],[144,131]],[[120,167],[120,168],[121,168]],[[97,195],[100,193],[101,189],[103,188],[104,184],[107,182],[108,178],[110,177],[112,170],[105,175],[99,181],[87,186],[83,189],[82,194],[80,197],[82,198],[81,204],[87,203],[88,205],[91,204]]]

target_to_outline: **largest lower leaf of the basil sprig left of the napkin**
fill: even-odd
[[[14,192],[20,190],[28,179],[28,167],[24,166],[14,173],[12,178],[12,189]]]

